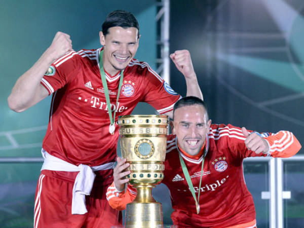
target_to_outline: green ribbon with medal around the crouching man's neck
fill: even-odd
[[[177,146],[177,149],[178,149],[178,146]],[[178,149],[178,151],[179,151],[179,149]],[[186,178],[186,181],[187,181],[187,184],[189,186],[190,192],[192,193],[192,196],[193,196],[194,201],[195,201],[195,205],[196,205],[196,208],[197,208],[197,214],[200,213],[200,203],[199,202],[200,202],[200,193],[201,193],[201,183],[202,183],[202,177],[203,177],[203,167],[204,167],[204,162],[205,162],[205,152],[206,152],[206,147],[205,147],[204,153],[203,153],[203,161],[202,161],[202,170],[201,170],[201,179],[200,179],[200,185],[199,185],[198,199],[196,199],[196,195],[195,195],[195,192],[194,192],[194,187],[193,187],[189,172],[187,170],[186,164],[185,164],[185,162],[183,161],[183,159],[180,155],[181,152],[179,151],[179,153],[178,153],[179,161],[180,161],[181,168],[182,168],[182,172],[183,172],[183,174]]]

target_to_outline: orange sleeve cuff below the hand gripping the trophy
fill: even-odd
[[[109,202],[111,208],[116,210],[125,210],[128,203],[131,203],[136,197],[136,189],[129,184],[126,191],[119,192],[114,182],[108,186],[106,191],[106,199]]]

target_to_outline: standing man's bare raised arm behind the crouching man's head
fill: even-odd
[[[178,50],[170,55],[170,58],[174,62],[176,68],[184,75],[187,93],[186,96],[195,96],[204,100],[201,88],[198,83],[197,75],[194,71],[191,56],[188,50]],[[173,117],[173,111],[166,112],[171,119]]]

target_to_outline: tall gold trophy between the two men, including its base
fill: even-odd
[[[168,117],[158,115],[120,116],[122,157],[130,163],[129,183],[137,196],[127,204],[126,227],[162,227],[162,204],[156,202],[151,190],[163,178],[168,133]]]

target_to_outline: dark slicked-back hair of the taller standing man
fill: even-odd
[[[139,38],[138,22],[134,17],[134,15],[131,14],[130,12],[124,10],[115,10],[109,13],[102,24],[103,35],[105,36],[108,33],[109,28],[116,26],[123,28],[129,28],[129,27],[137,28],[138,30],[137,38]]]

